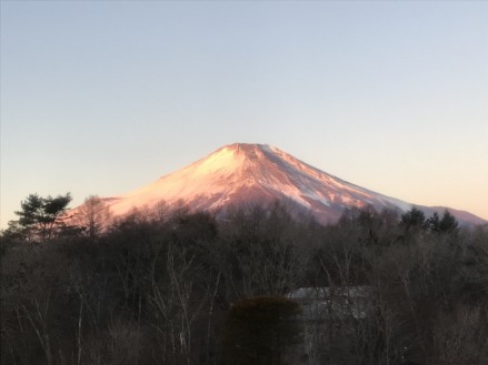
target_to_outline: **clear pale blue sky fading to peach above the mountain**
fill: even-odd
[[[1,1],[1,225],[233,142],[488,219],[486,1]]]

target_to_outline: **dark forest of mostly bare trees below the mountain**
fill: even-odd
[[[487,225],[279,203],[111,220],[97,197],[63,220],[70,200],[30,195],[2,232],[1,364],[488,364]]]

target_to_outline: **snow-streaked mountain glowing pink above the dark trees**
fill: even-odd
[[[235,143],[165,175],[132,193],[107,200],[113,215],[181,201],[192,210],[218,211],[230,204],[286,201],[309,211],[322,223],[336,222],[346,209],[374,206],[405,212],[411,204],[320,171],[267,144]],[[444,207],[421,207],[427,214]],[[485,221],[467,212],[451,213],[462,222]]]

